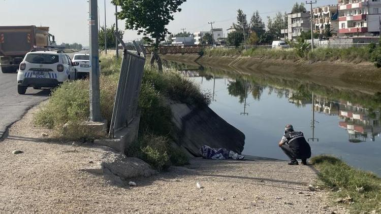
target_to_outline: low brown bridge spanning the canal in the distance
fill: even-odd
[[[147,54],[152,53],[153,46],[144,46]],[[179,54],[179,53],[199,53],[201,50],[206,48],[206,46],[201,45],[166,45],[159,46],[157,53],[158,54]],[[133,46],[129,47],[129,49],[135,51]]]

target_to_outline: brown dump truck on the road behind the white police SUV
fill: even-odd
[[[49,27],[0,26],[0,63],[3,73],[16,73],[26,53],[35,46],[55,46]]]

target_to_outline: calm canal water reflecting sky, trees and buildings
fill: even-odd
[[[245,134],[243,154],[287,160],[278,142],[292,124],[308,138],[313,156],[332,154],[381,175],[381,96],[168,63],[209,93],[210,108]]]

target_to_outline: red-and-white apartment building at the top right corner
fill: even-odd
[[[346,37],[376,36],[380,32],[380,0],[339,0],[339,33]]]

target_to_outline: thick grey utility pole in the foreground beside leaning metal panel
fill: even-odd
[[[90,11],[90,119],[101,122],[101,101],[99,89],[99,46],[98,46],[98,0],[89,0]]]

